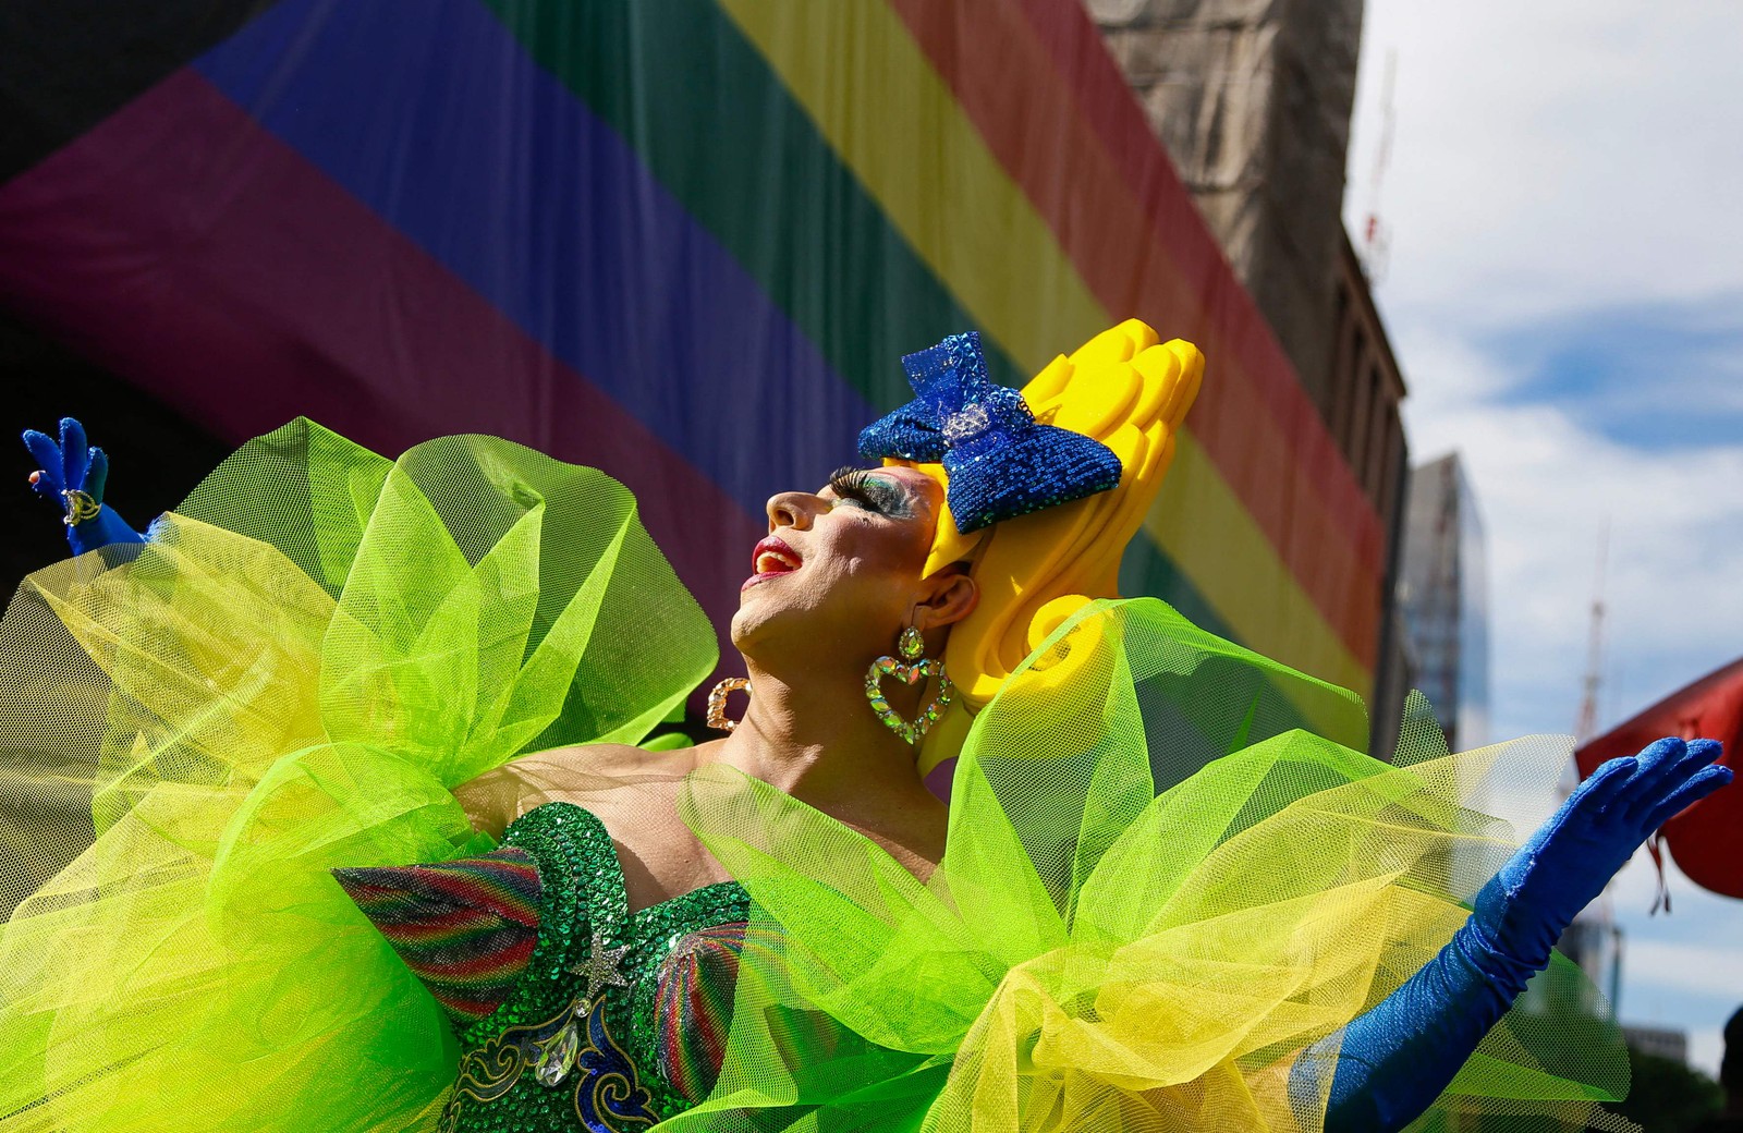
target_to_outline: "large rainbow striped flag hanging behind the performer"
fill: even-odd
[[[1370,692],[1382,523],[1077,0],[232,9],[42,92],[0,303],[232,439],[603,467],[716,624],[901,354],[980,329],[1018,383],[1136,315],[1210,366],[1124,589]]]

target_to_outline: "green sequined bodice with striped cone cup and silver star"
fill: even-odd
[[[736,882],[629,913],[603,823],[566,802],[502,838],[539,866],[539,940],[514,992],[460,1035],[444,1133],[626,1133],[694,1105],[718,1062],[749,901]]]

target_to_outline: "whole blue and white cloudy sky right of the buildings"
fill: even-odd
[[[1572,730],[1605,530],[1600,730],[1743,655],[1740,47],[1736,0],[1367,3],[1346,221],[1386,234],[1412,457],[1478,497],[1495,739]],[[1712,1074],[1743,901],[1654,887],[1640,852],[1609,896],[1621,1018]]]

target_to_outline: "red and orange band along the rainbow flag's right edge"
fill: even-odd
[[[889,2],[1096,298],[1204,347],[1192,434],[1372,668],[1379,516],[1081,3]]]

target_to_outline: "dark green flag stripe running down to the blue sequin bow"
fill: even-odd
[[[873,404],[913,396],[903,354],[978,326],[709,0],[485,5]],[[1021,385],[987,347],[992,377]]]

